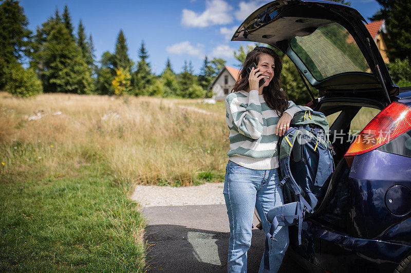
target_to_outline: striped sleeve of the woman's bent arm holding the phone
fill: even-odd
[[[250,91],[247,108],[245,103],[240,103],[238,97],[228,96],[226,112],[226,121],[230,130],[235,130],[252,139],[260,138],[264,122],[257,90]]]

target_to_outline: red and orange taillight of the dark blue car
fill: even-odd
[[[348,166],[354,156],[377,149],[411,129],[411,107],[399,102],[389,104],[375,116],[352,142],[344,157]]]

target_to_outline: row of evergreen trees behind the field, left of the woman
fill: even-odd
[[[141,42],[138,62],[128,55],[122,30],[117,36],[115,51],[106,51],[96,61],[92,36],[86,35],[80,20],[77,31],[67,5],[58,9],[32,33],[18,1],[5,0],[0,5],[0,90],[18,96],[41,92],[146,95],[200,98],[225,66],[221,58],[206,56],[199,75],[191,61],[184,61],[181,73],[173,71],[170,59],[160,75],[155,75],[148,62],[148,52]],[[22,62],[29,60],[29,67]]]

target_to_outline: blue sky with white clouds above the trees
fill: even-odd
[[[29,28],[35,31],[67,4],[72,23],[77,30],[81,19],[87,36],[92,35],[99,60],[104,51],[115,50],[120,29],[127,40],[128,55],[138,61],[141,41],[150,57],[152,71],[160,74],[170,58],[173,70],[180,72],[184,60],[192,61],[199,73],[205,55],[222,57],[227,65],[237,66],[233,50],[245,43],[230,41],[240,23],[264,0],[188,0],[188,1],[105,1],[105,0],[21,0],[29,19]],[[351,0],[366,19],[379,5],[375,0]]]

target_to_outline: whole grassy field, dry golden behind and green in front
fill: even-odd
[[[221,181],[223,104],[0,93],[0,271],[146,270],[135,183]]]

